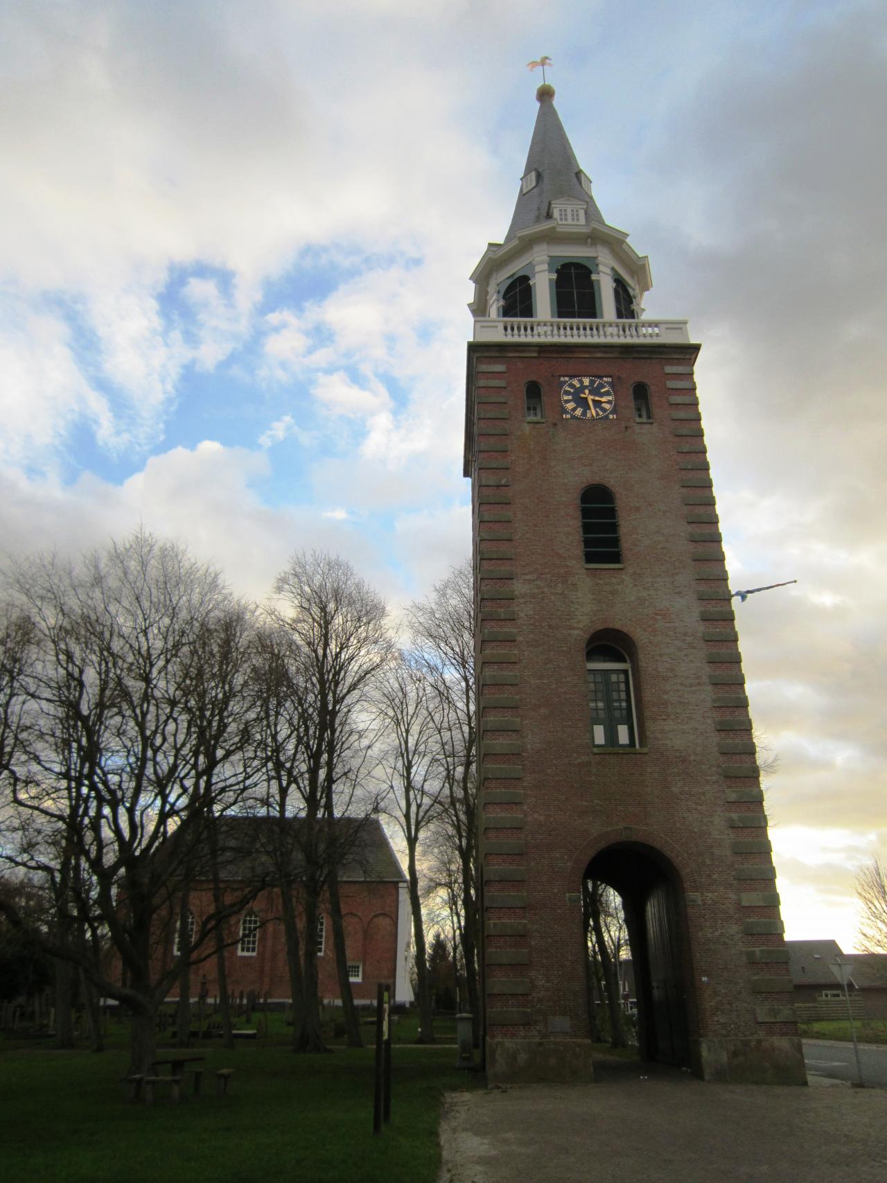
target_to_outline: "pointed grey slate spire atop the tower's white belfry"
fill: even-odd
[[[580,163],[576,153],[555,110],[555,88],[548,84],[539,86],[536,98],[539,103],[539,114],[536,116],[524,176],[536,169],[539,180],[529,193],[519,194],[505,243],[516,238],[519,231],[550,218],[551,202],[558,198],[575,198],[582,201],[588,209],[587,225],[593,221],[603,222],[603,215],[595,199],[583,189],[578,179]]]

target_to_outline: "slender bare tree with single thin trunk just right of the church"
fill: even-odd
[[[381,770],[388,791],[383,809],[393,819],[407,848],[407,886],[413,913],[419,1000],[420,1042],[434,1042],[432,991],[422,919],[417,853],[428,827],[441,813],[444,768],[438,723],[429,704],[425,668],[401,654],[380,678],[378,718],[382,728]]]

